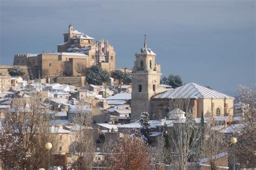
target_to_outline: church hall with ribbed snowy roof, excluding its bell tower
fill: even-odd
[[[190,106],[179,109],[186,111],[189,108],[194,118],[200,118],[201,113],[205,117],[229,116],[233,115],[233,100],[233,97],[226,94],[196,83],[188,83],[152,97],[149,113],[154,119],[169,117],[169,113],[176,109],[175,106],[183,107],[183,103],[187,103]]]

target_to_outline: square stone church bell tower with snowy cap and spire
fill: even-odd
[[[150,112],[150,98],[160,89],[160,65],[156,63],[156,54],[144,46],[136,54],[132,71],[131,118],[139,119],[140,113]]]

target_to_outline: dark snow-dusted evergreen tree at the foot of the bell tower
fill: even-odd
[[[140,133],[146,138],[147,142],[149,141],[149,135],[151,134],[149,113],[142,112],[139,119],[139,124],[142,126],[140,128]]]

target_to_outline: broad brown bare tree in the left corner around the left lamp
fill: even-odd
[[[5,169],[38,169],[47,167],[48,152],[44,145],[51,142],[55,151],[56,139],[51,133],[48,105],[39,97],[15,99],[5,113],[5,126],[0,135],[0,159]]]

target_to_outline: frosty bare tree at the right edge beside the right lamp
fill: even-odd
[[[256,167],[256,91],[247,86],[238,86],[238,101],[243,103],[241,124],[244,127],[238,138],[236,157],[243,167]]]

